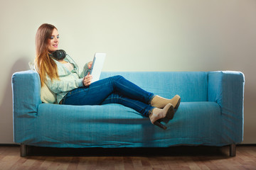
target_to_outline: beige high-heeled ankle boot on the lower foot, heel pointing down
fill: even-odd
[[[171,103],[168,103],[163,109],[154,108],[152,113],[149,115],[149,119],[153,125],[157,125],[159,128],[166,130],[166,126],[161,124],[162,118],[174,118],[174,106],[172,106]]]

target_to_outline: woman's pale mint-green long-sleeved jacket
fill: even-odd
[[[53,60],[58,67],[59,80],[50,80],[50,77],[46,76],[45,84],[48,86],[50,91],[53,91],[53,93],[56,94],[57,103],[60,103],[60,101],[66,94],[68,94],[69,91],[83,86],[82,79],[88,74],[89,69],[86,63],[82,69],[82,72],[79,74],[78,64],[76,64],[69,55],[67,55],[64,60],[73,64],[74,69],[71,72],[65,67],[64,64],[55,59]]]

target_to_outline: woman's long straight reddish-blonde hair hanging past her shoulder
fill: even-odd
[[[36,70],[40,75],[41,86],[46,80],[46,74],[51,80],[58,79],[57,64],[49,56],[48,43],[55,26],[48,23],[42,24],[36,32]]]

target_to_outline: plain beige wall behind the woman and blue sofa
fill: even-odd
[[[106,52],[104,71],[243,72],[243,143],[256,143],[255,0],[0,1],[0,143],[13,141],[11,75],[33,61],[42,23],[80,67]]]

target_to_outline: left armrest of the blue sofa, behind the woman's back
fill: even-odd
[[[13,91],[14,141],[33,130],[40,98],[41,84],[39,74],[34,71],[16,72],[11,79]]]

